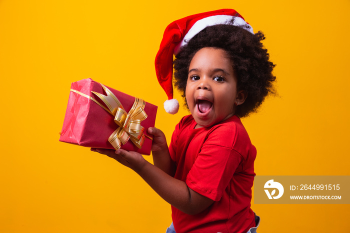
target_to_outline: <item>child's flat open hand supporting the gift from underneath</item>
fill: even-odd
[[[134,151],[126,151],[124,149],[100,149],[91,148],[91,151],[95,151],[101,154],[105,154],[108,157],[114,158],[124,166],[131,168],[132,170],[138,172],[147,163],[140,153]]]

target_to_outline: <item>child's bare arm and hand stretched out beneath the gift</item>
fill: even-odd
[[[141,154],[118,149],[91,148],[114,158],[139,174],[153,190],[165,201],[187,214],[196,214],[213,203],[213,200],[193,191],[184,181],[165,173],[160,168],[146,161]]]

